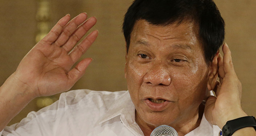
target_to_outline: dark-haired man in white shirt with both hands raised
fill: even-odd
[[[98,35],[93,31],[72,50],[96,23],[95,17],[86,17],[81,13],[69,22],[66,15],[58,21],[1,86],[1,130],[30,100],[67,91],[84,74],[91,58],[71,67]],[[224,21],[213,1],[135,0],[123,32],[129,92],[63,93],[58,102],[6,127],[2,135],[149,136],[165,124],[179,136],[215,136],[227,121],[247,116],[227,44],[224,56],[219,54]],[[256,133],[245,127],[233,133],[239,135]]]

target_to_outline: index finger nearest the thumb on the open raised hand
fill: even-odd
[[[98,36],[98,30],[94,30],[90,33],[80,44],[78,44],[70,53],[72,61],[75,63],[81,57],[82,54],[88,50]]]

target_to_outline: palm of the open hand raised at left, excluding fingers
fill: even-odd
[[[39,45],[40,46],[40,45]],[[72,59],[68,53],[57,46],[41,45],[42,49],[33,49],[33,53],[28,54],[28,62],[40,62],[34,63],[27,67],[33,73],[33,81],[37,84],[37,90],[40,95],[52,95],[56,94],[56,91],[68,90],[68,72],[73,65]],[[47,51],[46,51],[47,50]],[[36,55],[36,58],[32,56]],[[31,55],[31,57],[29,56]],[[54,83],[54,86],[51,86]],[[50,93],[48,90],[51,90]]]

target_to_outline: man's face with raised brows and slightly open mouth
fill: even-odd
[[[177,125],[198,115],[209,68],[193,22],[152,25],[138,20],[131,32],[125,77],[136,121]]]

